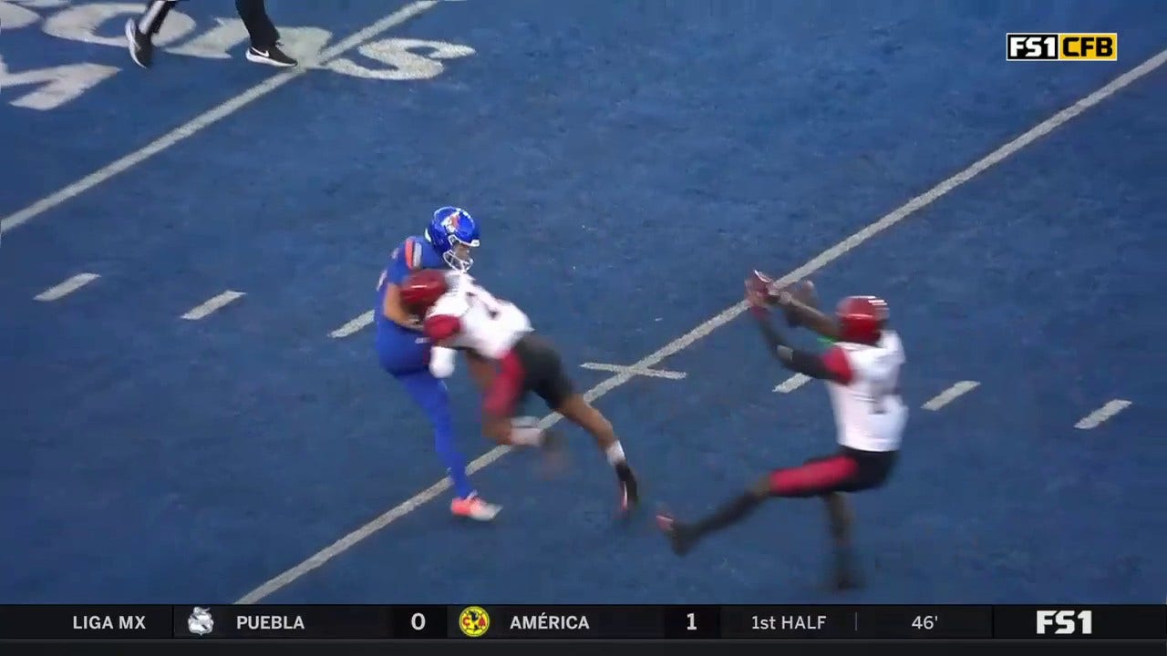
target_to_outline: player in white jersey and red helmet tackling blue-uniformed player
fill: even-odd
[[[501,445],[554,448],[554,434],[530,418],[516,414],[529,392],[547,407],[595,438],[620,484],[620,508],[627,512],[640,502],[638,484],[612,424],[575,391],[562,360],[534,333],[526,314],[515,303],[495,298],[464,272],[422,270],[400,287],[403,305],[424,317],[425,334],[434,344],[434,360],[453,351],[481,358],[492,367],[480,378],[483,395],[483,432]],[[433,367],[433,364],[432,364]]]

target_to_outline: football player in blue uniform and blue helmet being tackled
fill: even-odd
[[[405,385],[426,413],[434,431],[434,446],[454,482],[450,512],[489,522],[502,509],[483,501],[466,474],[466,458],[454,445],[454,421],[443,378],[454,371],[454,351],[433,347],[421,323],[401,305],[400,285],[422,268],[467,271],[474,264],[470,250],[478,245],[478,224],[461,208],[434,212],[422,235],[406,237],[390,258],[377,282],[377,358],[382,368]],[[471,370],[471,374],[474,371]]]

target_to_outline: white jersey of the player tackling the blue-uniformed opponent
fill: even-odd
[[[466,273],[448,277],[450,288],[429,308],[426,317],[456,316],[461,330],[447,346],[469,349],[483,357],[499,360],[523,335],[531,321],[515,303],[496,299]]]

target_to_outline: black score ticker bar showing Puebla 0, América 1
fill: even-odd
[[[4,640],[1154,640],[1147,606],[0,606]]]

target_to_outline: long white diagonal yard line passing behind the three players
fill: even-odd
[[[823,251],[815,259],[808,261],[806,264],[802,265],[795,271],[788,273],[778,282],[782,285],[789,285],[790,282],[801,280],[806,275],[809,275],[810,273],[813,273],[819,268],[826,266],[827,264],[831,264],[836,259],[843,257],[851,250],[861,245],[864,242],[867,242],[868,239],[879,235],[883,230],[887,230],[888,228],[903,221],[916,210],[927,207],[936,198],[939,198],[944,194],[948,194],[952,189],[956,189],[960,184],[967,182],[969,180],[972,180],[978,174],[983,173],[985,169],[1008,158],[1013,153],[1016,153],[1021,148],[1025,148],[1037,138],[1048,134],[1055,127],[1064,124],[1065,121],[1081,114],[1088,109],[1097,105],[1107,97],[1113,96],[1117,91],[1119,91],[1124,86],[1131,84],[1135,79],[1139,79],[1140,77],[1147,75],[1148,72],[1162,65],[1163,62],[1167,62],[1167,50],[1159,53],[1158,55],[1139,64],[1134,69],[1123,74],[1121,76],[1116,78],[1110,84],[1103,86],[1098,91],[1095,91],[1093,93],[1078,100],[1074,105],[1062,110],[1061,112],[1057,112],[1053,117],[1039,124],[1033,130],[1026,132],[1025,134],[1018,137],[1013,141],[1009,141],[1008,144],[993,151],[983,160],[973,163],[965,170],[962,170],[960,173],[953,175],[952,177],[945,180],[944,182],[941,182],[939,184],[929,189],[928,191],[924,191],[920,196],[916,196],[902,208],[893,211],[892,214],[885,216],[883,218],[880,218],[875,223],[867,225],[862,230],[855,232],[854,235],[847,237],[846,239]],[[718,314],[713,319],[710,319],[705,323],[701,323],[700,326],[693,328],[692,330],[682,335],[680,337],[677,337],[672,342],[669,342],[668,344],[658,349],[656,353],[645,356],[643,360],[633,364],[631,367],[641,369],[654,367],[657,363],[665,360],[666,357],[689,348],[693,342],[705,337],[710,333],[728,323],[745,310],[746,310],[746,302],[745,301],[739,302],[738,305],[734,305],[725,309],[724,312],[721,312],[721,314]],[[587,398],[588,400],[595,400],[602,397],[603,395],[610,392],[612,390],[619,388],[620,385],[623,385],[631,378],[633,378],[631,374],[617,374],[601,382],[599,385],[592,388],[587,392],[585,392],[584,397]],[[539,426],[541,427],[551,426],[552,424],[559,421],[559,419],[560,417],[558,414],[548,414],[547,417],[544,417],[541,421],[539,421]],[[505,455],[508,451],[510,451],[508,447],[495,447],[488,451],[487,453],[480,455],[477,459],[475,459],[474,462],[471,462],[467,469],[470,473],[477,472],[478,469],[487,467],[488,465],[495,462],[496,460]],[[320,567],[324,563],[328,563],[337,554],[348,551],[350,547],[352,547],[352,545],[359,543],[366,537],[384,529],[389,524],[392,524],[397,519],[400,519],[401,517],[408,515],[421,504],[433,498],[436,498],[438,495],[448,489],[449,486],[450,486],[449,479],[442,479],[441,481],[438,481],[436,483],[429,486],[428,488],[421,490],[420,493],[413,495],[412,497],[403,501],[397,507],[385,511],[379,517],[373,518],[368,524],[361,526],[359,529],[356,529],[349,535],[342,537],[341,539],[334,542],[333,544],[309,556],[307,560],[300,563],[299,565],[295,565],[294,567],[287,570],[286,572],[277,574],[274,578],[270,579],[268,581],[261,584],[256,589],[245,594],[236,603],[254,603],[257,601],[263,600],[273,592],[287,586],[292,581],[295,581],[300,577]]]

